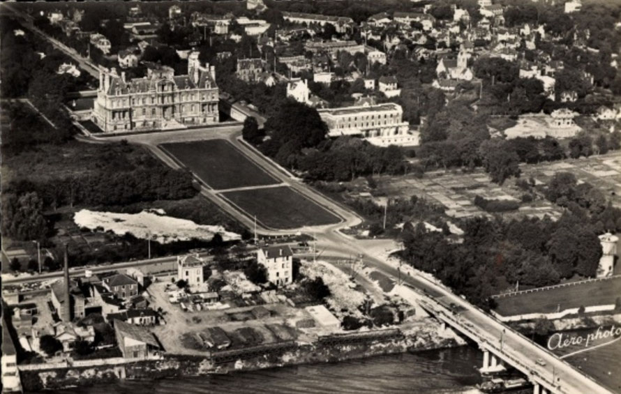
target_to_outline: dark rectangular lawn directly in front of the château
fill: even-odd
[[[216,190],[278,183],[223,139],[160,146]]]

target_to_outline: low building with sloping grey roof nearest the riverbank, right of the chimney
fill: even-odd
[[[114,333],[124,358],[146,359],[162,350],[153,333],[147,328],[134,326],[125,321],[114,321]]]

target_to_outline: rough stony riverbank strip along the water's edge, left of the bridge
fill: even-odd
[[[421,321],[426,326],[436,326]],[[215,352],[206,356],[167,354],[161,360],[137,361],[123,365],[96,365],[80,368],[50,368],[20,371],[24,391],[61,390],[71,387],[117,383],[123,379],[164,379],[200,377],[237,371],[256,371],[293,365],[338,363],[360,358],[407,351],[445,349],[464,344],[450,331],[434,334],[429,329],[346,333],[318,338],[313,343],[296,343],[280,348],[239,349],[234,353]]]

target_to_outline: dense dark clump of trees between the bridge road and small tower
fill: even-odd
[[[460,227],[464,242],[450,243],[424,225],[406,225],[403,257],[481,308],[489,308],[491,295],[516,282],[540,287],[573,275],[594,276],[601,256],[596,229],[572,212],[558,222],[478,217]]]

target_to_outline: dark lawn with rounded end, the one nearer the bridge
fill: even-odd
[[[257,215],[258,222],[273,229],[329,225],[340,221],[292,188],[242,190],[222,195],[248,215]]]

